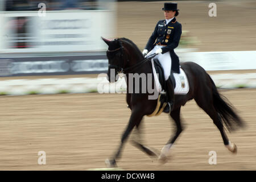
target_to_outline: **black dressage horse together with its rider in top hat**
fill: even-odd
[[[158,59],[164,70],[164,90],[166,90],[166,102],[168,103],[164,108],[164,112],[168,113],[174,119],[176,132],[168,140],[166,145],[163,146],[160,155],[141,142],[133,140],[132,143],[147,155],[157,157],[160,162],[166,162],[168,151],[177,137],[179,137],[181,131],[183,131],[180,119],[181,106],[184,106],[187,101],[194,99],[197,105],[209,115],[213,123],[217,126],[224,145],[228,150],[233,153],[237,152],[236,145],[230,142],[226,136],[224,127],[229,131],[237,127],[242,127],[242,119],[236,114],[232,105],[228,101],[225,101],[225,98],[218,93],[216,85],[204,68],[193,62],[179,64],[179,57],[174,52],[174,49],[179,45],[181,36],[181,24],[176,20],[176,16],[179,14],[177,3],[164,3],[162,10],[164,11],[165,19],[159,20],[156,24],[155,30],[150,36],[143,52],[129,39],[119,38],[108,40],[102,38],[108,44],[106,55],[109,60],[108,78],[110,82],[113,82],[110,69],[115,69],[114,76],[118,75],[118,73],[124,73],[125,75],[129,73],[153,73],[154,71],[150,61],[152,56],[155,56],[154,59]],[[188,93],[183,95],[174,94],[175,84],[171,77],[172,73],[180,73],[180,68],[187,75],[189,83]],[[117,81],[116,77],[114,81]],[[155,84],[154,78],[147,77],[146,81]],[[129,77],[126,77],[126,83],[127,90],[129,90],[129,86],[131,86],[129,85]],[[125,144],[127,137],[134,127],[140,133],[140,124],[143,117],[152,114],[156,109],[158,100],[149,100],[148,96],[150,94],[149,92],[127,92],[126,102],[131,109],[131,116],[122,134],[121,143],[117,151],[115,151],[110,159],[106,160],[106,164],[109,167],[117,166],[116,159],[120,158],[123,144]]]

